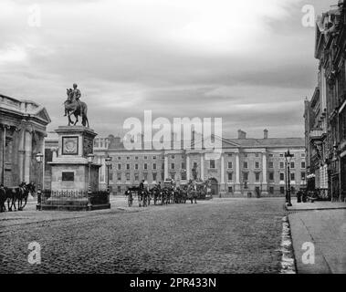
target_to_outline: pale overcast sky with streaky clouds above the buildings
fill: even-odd
[[[129,117],[222,118],[261,138],[303,136],[303,100],[317,85],[314,27],[337,0],[1,0],[0,93],[44,105],[66,124],[78,83],[100,136]],[[41,25],[29,26],[32,9]],[[34,6],[35,8],[35,6]],[[30,22],[29,22],[30,23]]]

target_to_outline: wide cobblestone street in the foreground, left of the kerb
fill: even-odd
[[[31,208],[31,210],[30,210]],[[278,273],[283,199],[0,214],[2,273]],[[28,244],[41,245],[30,265]]]

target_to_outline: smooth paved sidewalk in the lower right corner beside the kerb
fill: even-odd
[[[295,212],[288,214],[288,220],[299,274],[346,273],[345,209]],[[303,263],[305,243],[315,248],[313,264]]]

